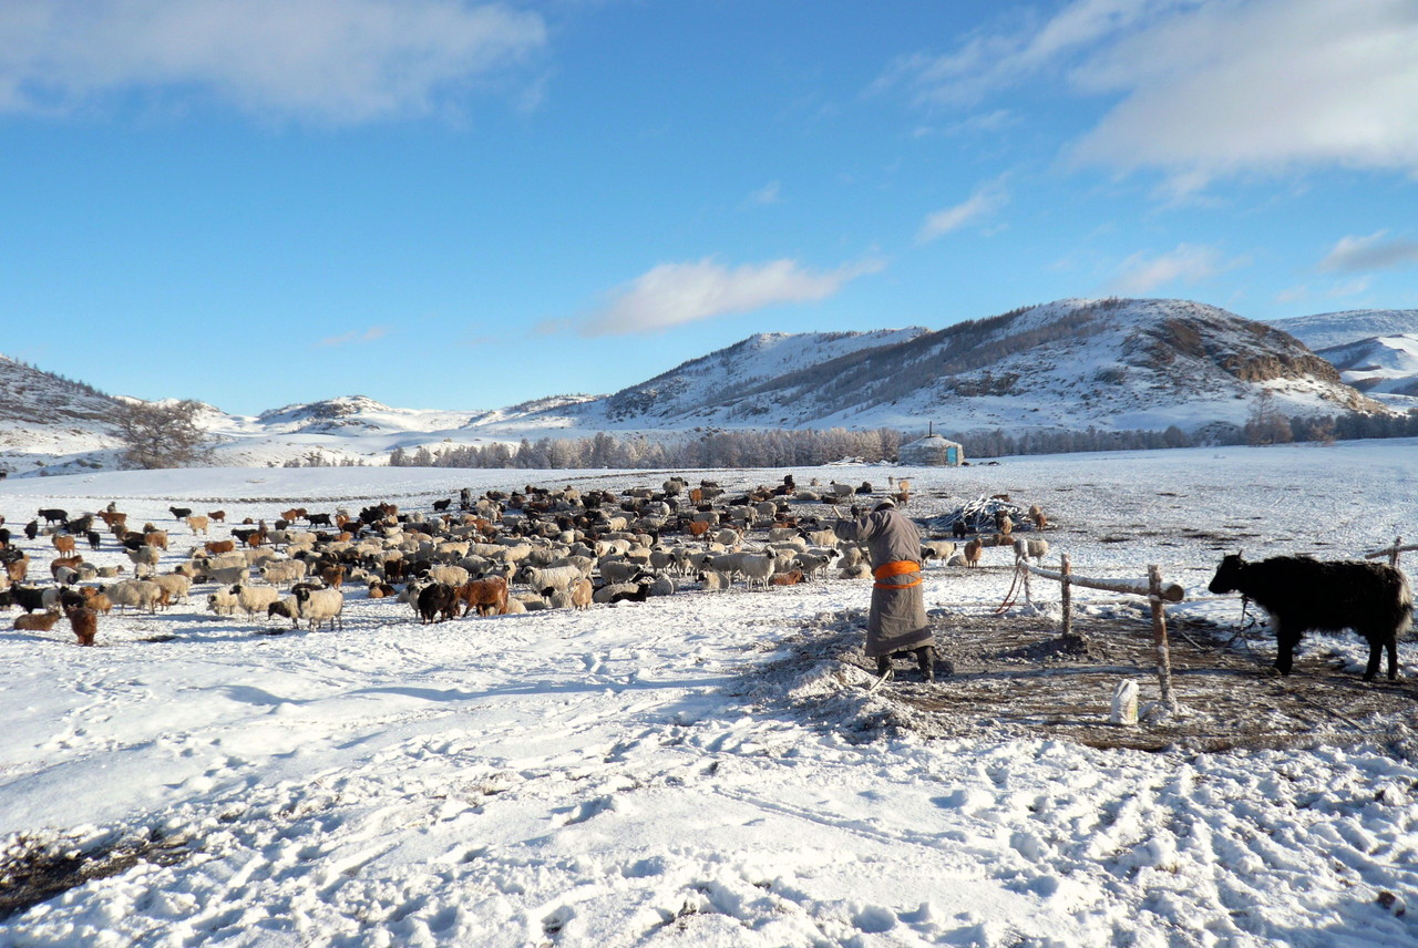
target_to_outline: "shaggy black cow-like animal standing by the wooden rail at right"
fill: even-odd
[[[1412,619],[1408,578],[1381,563],[1271,557],[1246,563],[1241,554],[1221,560],[1207,585],[1212,592],[1241,592],[1271,614],[1278,650],[1275,667],[1289,675],[1295,646],[1307,629],[1354,629],[1368,641],[1364,680],[1378,675],[1388,652],[1388,680],[1398,677],[1398,633]]]

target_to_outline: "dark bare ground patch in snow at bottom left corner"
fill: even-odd
[[[118,839],[88,850],[67,846],[60,839],[17,836],[0,853],[0,921],[139,863],[174,866],[191,854],[187,843],[184,837],[163,837],[157,830],[142,839]]]

